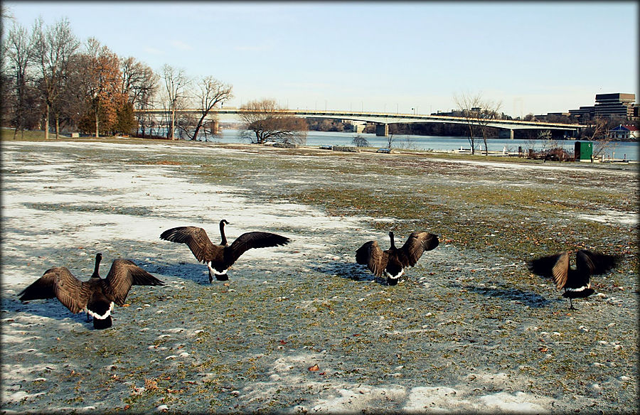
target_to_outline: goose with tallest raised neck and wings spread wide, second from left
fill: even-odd
[[[220,220],[220,244],[213,244],[207,232],[201,227],[180,226],[173,227],[161,233],[160,239],[171,242],[187,244],[193,256],[199,262],[207,264],[209,269],[209,282],[213,282],[213,276],[218,281],[229,279],[227,270],[240,255],[252,248],[276,247],[288,244],[291,239],[270,232],[246,232],[240,235],[232,244],[227,243],[225,225],[229,222]]]

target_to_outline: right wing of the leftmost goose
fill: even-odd
[[[149,274],[129,259],[116,259],[105,279],[107,295],[118,306],[124,304],[132,285],[164,285],[164,282]]]

